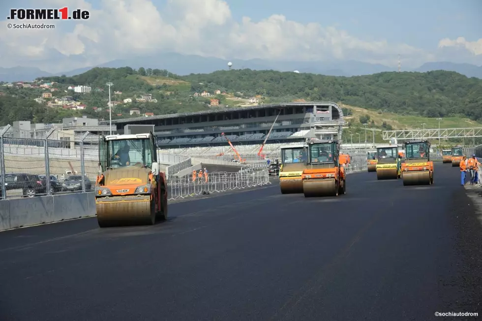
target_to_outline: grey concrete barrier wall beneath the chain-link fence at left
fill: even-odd
[[[0,200],[0,230],[95,214],[93,192]]]

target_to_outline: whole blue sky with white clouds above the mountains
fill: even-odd
[[[54,21],[54,30],[7,28],[22,23],[6,19],[10,8],[65,6],[89,10],[90,19]],[[400,54],[407,67],[482,64],[482,0],[2,0],[0,13],[2,67],[59,72],[166,51],[388,66]]]

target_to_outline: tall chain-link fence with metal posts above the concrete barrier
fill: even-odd
[[[98,147],[92,142],[98,136],[0,128],[2,199],[92,191],[98,171]]]

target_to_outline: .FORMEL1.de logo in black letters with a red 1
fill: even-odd
[[[75,9],[69,11],[67,7],[61,9],[10,9],[10,20],[87,20],[89,11]]]

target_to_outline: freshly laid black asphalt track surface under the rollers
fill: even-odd
[[[0,320],[480,320],[479,214],[458,168],[435,170],[420,187],[351,174],[338,197],[274,183],[154,226],[1,232]]]

